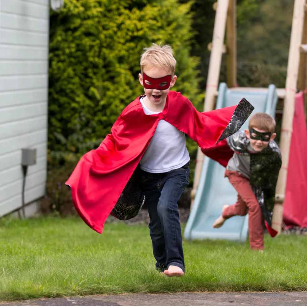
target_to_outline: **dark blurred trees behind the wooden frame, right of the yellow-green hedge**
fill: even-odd
[[[181,0],[182,3],[188,0]],[[200,57],[200,88],[205,89],[216,12],[216,0],[195,0],[192,55]],[[293,0],[237,0],[237,83],[239,86],[284,87],[290,45]],[[220,82],[226,81],[223,56]]]

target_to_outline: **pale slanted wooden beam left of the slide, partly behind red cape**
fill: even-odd
[[[218,0],[216,8],[216,16],[214,20],[213,28],[213,38],[212,38],[212,48],[210,53],[209,68],[208,68],[208,77],[206,85],[206,96],[204,100],[204,111],[212,111],[215,105],[215,93],[217,91],[219,78],[220,78],[220,69],[221,61],[223,55],[223,44],[225,39],[225,28],[226,28],[226,19],[227,19],[227,10],[228,10],[229,0]],[[194,181],[193,188],[191,191],[191,207],[193,206],[194,197],[198,187],[200,173],[203,166],[204,154],[198,147],[196,165],[194,172]]]

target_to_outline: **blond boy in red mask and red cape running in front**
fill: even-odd
[[[135,199],[135,188],[127,183],[139,180],[150,215],[156,270],[179,277],[185,273],[185,262],[177,201],[190,174],[185,134],[210,148],[239,129],[253,107],[242,99],[237,107],[198,112],[180,92],[170,91],[177,76],[169,45],[152,44],[140,64],[145,95],[122,111],[111,134],[84,155],[66,184],[72,188],[77,212],[101,233],[110,212],[121,216],[129,207],[125,201]],[[243,111],[236,112],[238,108]],[[234,124],[237,119],[241,125]]]

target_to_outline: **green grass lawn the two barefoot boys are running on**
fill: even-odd
[[[307,290],[307,237],[248,242],[184,240],[186,274],[155,272],[146,225],[107,223],[102,235],[80,218],[3,219],[0,300],[95,293]]]

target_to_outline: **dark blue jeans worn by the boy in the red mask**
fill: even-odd
[[[173,265],[185,271],[177,201],[189,183],[189,162],[167,173],[141,173],[156,269],[164,271]]]

